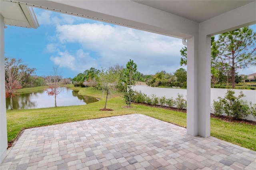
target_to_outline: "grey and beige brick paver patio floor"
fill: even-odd
[[[256,152],[134,114],[26,129],[0,169],[255,170]]]

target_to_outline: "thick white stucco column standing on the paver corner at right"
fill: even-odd
[[[187,40],[187,134],[210,136],[210,36]]]

